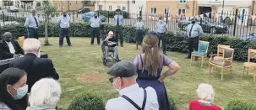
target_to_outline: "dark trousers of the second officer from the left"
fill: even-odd
[[[59,45],[60,46],[63,46],[63,39],[64,37],[66,37],[67,39],[67,43],[68,45],[71,45],[71,42],[70,42],[70,30],[69,29],[61,29],[60,30],[60,35],[59,35]]]

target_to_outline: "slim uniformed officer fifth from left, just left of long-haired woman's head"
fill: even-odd
[[[135,33],[135,40],[136,40],[136,49],[138,49],[138,45],[142,42],[143,35],[144,35],[144,23],[142,18],[138,18],[138,22],[135,24],[136,33]]]

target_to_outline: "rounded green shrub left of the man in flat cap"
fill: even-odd
[[[85,92],[74,98],[68,110],[105,110],[105,104],[98,95]]]

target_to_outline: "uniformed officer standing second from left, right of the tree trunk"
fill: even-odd
[[[61,29],[60,29],[60,36],[59,36],[59,47],[63,47],[63,39],[64,36],[67,39],[68,46],[72,46],[70,42],[70,17],[67,16],[67,13],[63,13],[63,16],[58,19],[57,22]]]

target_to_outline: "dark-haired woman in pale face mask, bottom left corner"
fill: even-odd
[[[25,71],[18,68],[8,68],[0,74],[0,110],[25,110],[28,106],[26,81]]]

